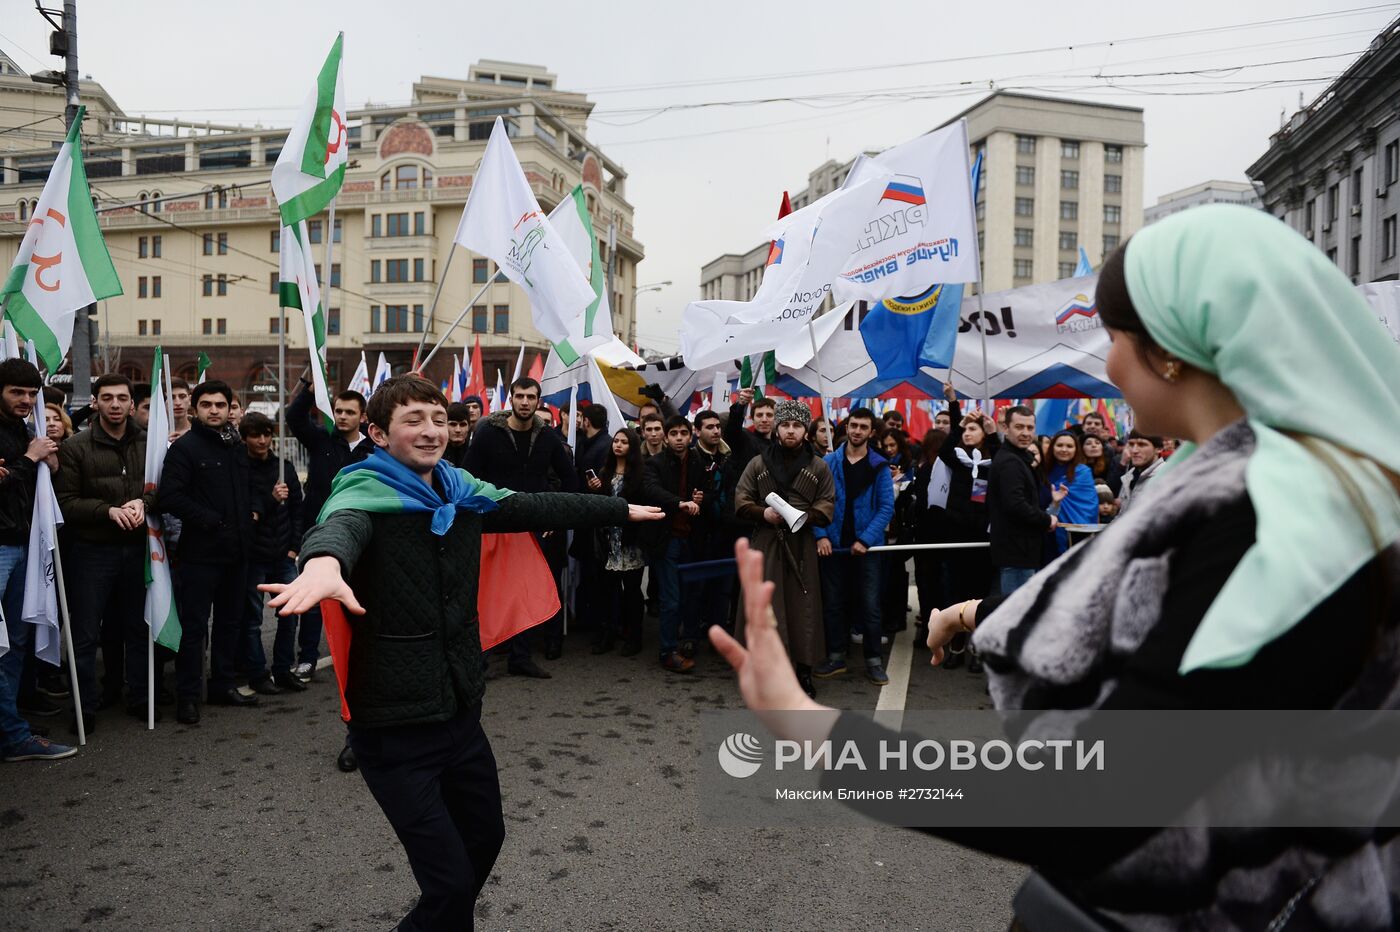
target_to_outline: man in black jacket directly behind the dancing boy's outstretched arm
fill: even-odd
[[[498,488],[514,491],[578,491],[578,476],[568,446],[538,410],[539,382],[532,378],[511,382],[511,410],[494,411],[476,425],[472,445],[466,449],[466,472]],[[557,586],[568,560],[564,535],[546,530],[536,535],[536,539],[554,572]],[[563,609],[542,627],[545,656],[553,661],[563,652]],[[505,669],[510,673],[549,679],[550,675],[531,658],[528,631],[511,638],[508,649]]]

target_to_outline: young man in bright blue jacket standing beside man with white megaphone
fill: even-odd
[[[846,442],[825,456],[836,481],[836,515],[813,532],[822,558],[826,661],[812,676],[846,673],[846,644],[854,630],[865,648],[865,677],[883,686],[889,676],[881,658],[881,556],[869,549],[885,543],[885,529],[895,516],[895,483],[889,462],[871,446],[874,434],[875,413],[858,407],[846,418]],[[846,547],[848,554],[834,553]]]

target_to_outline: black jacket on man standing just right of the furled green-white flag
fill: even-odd
[[[157,508],[181,519],[175,556],[182,563],[244,563],[253,549],[253,501],[248,448],[224,444],[217,431],[190,421],[171,444],[157,491]]]

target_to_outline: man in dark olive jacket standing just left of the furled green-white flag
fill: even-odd
[[[73,655],[83,715],[92,730],[101,691],[97,648],[104,628],[116,628],[126,649],[126,711],[146,721],[146,431],[132,417],[132,383],[102,375],[92,386],[97,417],[59,448],[53,493],[71,544],[74,578],[69,586]],[[115,683],[120,675],[109,670]],[[157,712],[160,718],[160,712]]]

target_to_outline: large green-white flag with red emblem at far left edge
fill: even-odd
[[[80,106],[73,119],[20,241],[20,252],[0,284],[6,316],[21,340],[34,341],[49,372],[63,365],[77,311],[122,294],[83,168],[78,127],[85,109]]]

